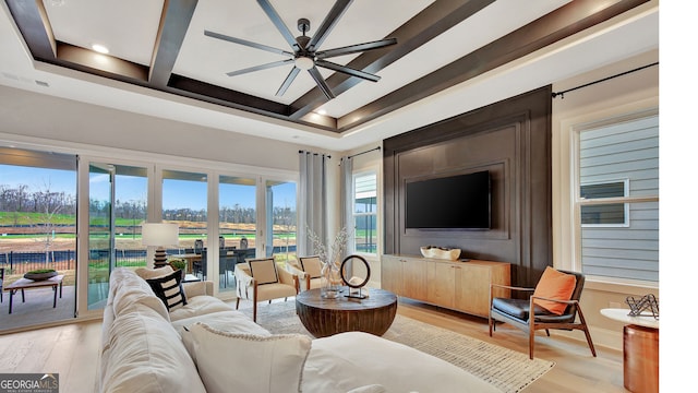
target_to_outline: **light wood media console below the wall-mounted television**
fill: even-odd
[[[381,286],[398,296],[486,318],[490,284],[510,285],[512,264],[447,261],[418,255],[386,254],[381,259]],[[509,297],[497,289],[495,297]]]

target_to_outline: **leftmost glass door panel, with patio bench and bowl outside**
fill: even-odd
[[[0,331],[75,317],[76,174],[75,155],[0,147]],[[55,307],[50,287],[24,288],[36,270],[62,277]]]

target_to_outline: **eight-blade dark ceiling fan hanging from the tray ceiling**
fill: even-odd
[[[335,27],[335,25],[339,21],[339,17],[349,8],[349,4],[351,4],[351,1],[352,0],[337,0],[337,2],[335,2],[335,5],[332,8],[332,10],[329,10],[329,13],[327,14],[327,16],[325,16],[325,20],[321,24],[317,32],[315,32],[315,34],[312,37],[309,37],[305,35],[305,33],[310,31],[310,21],[304,17],[299,19],[298,29],[301,31],[303,35],[299,37],[293,37],[293,35],[291,35],[291,32],[288,29],[288,27],[281,20],[281,17],[276,12],[276,10],[274,10],[274,7],[272,7],[269,1],[257,0],[257,3],[260,4],[260,7],[262,7],[266,15],[269,17],[269,20],[272,20],[276,28],[281,33],[281,36],[284,36],[286,41],[290,45],[292,51],[274,48],[263,44],[252,43],[246,39],[230,37],[230,36],[219,34],[219,33],[214,33],[210,31],[204,31],[204,35],[213,38],[227,40],[234,44],[244,45],[244,46],[256,48],[256,49],[266,50],[273,53],[288,56],[288,58],[285,60],[274,61],[266,64],[260,64],[260,66],[250,67],[250,68],[245,68],[238,71],[227,72],[226,74],[228,76],[240,75],[240,74],[244,74],[253,71],[266,70],[274,67],[293,64],[291,72],[289,72],[288,76],[286,76],[286,80],[284,80],[284,83],[281,83],[281,86],[279,87],[279,90],[276,92],[277,96],[282,96],[284,93],[286,93],[288,87],[291,85],[291,83],[293,82],[298,73],[301,70],[306,70],[310,73],[310,75],[313,78],[315,83],[317,84],[317,87],[325,94],[327,99],[333,99],[335,98],[335,95],[333,94],[332,90],[329,88],[329,86],[327,85],[323,76],[320,74],[317,67],[341,72],[351,76],[361,78],[363,80],[371,81],[371,82],[377,82],[381,79],[381,76],[377,76],[375,74],[371,74],[361,70],[352,69],[347,66],[341,66],[332,61],[327,61],[325,59],[337,57],[337,56],[351,55],[360,51],[378,49],[378,48],[397,44],[396,38],[386,38],[386,39],[381,39],[381,40],[375,40],[370,43],[350,45],[350,46],[340,47],[340,48],[320,50],[320,46],[323,44],[325,38],[327,38],[327,36],[329,35],[329,32]]]

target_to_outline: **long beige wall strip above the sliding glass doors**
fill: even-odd
[[[0,86],[0,142],[34,142],[35,138],[38,144],[72,150],[124,150],[120,154],[142,159],[148,156],[143,153],[156,153],[294,171],[298,151],[305,148]]]

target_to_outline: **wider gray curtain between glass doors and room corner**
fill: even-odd
[[[329,156],[318,153],[299,152],[299,212],[298,212],[298,245],[299,257],[311,255],[313,245],[308,238],[308,228],[317,237],[327,241],[327,164]]]

